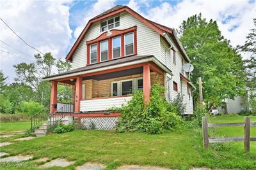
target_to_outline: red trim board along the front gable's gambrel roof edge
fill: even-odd
[[[148,27],[151,27],[152,29],[154,29],[154,31],[156,31],[157,33],[159,33],[159,34],[161,34],[163,36],[164,31],[159,26],[157,26],[155,24],[152,24],[152,22],[148,21],[147,19],[142,17],[140,14],[138,14],[135,11],[131,10],[131,8],[129,8],[127,6],[124,6],[124,8],[120,8],[120,9],[118,9],[116,11],[112,11],[111,13],[108,13],[106,15],[103,15],[103,16],[100,16],[100,17],[93,18],[93,19],[89,20],[89,22],[86,24],[86,27],[84,27],[83,31],[81,32],[79,38],[77,38],[76,43],[74,44],[74,46],[72,46],[70,52],[68,52],[66,60],[71,60],[72,61],[72,55],[76,51],[77,47],[79,46],[79,44],[83,40],[84,36],[88,32],[88,30],[89,30],[89,28],[90,28],[90,26],[92,25],[93,22],[102,20],[104,18],[111,17],[111,16],[116,15],[116,14],[122,12],[122,11],[127,11],[128,13],[133,15],[134,17],[136,17],[139,20],[141,20],[141,22],[143,22],[144,24],[148,25]]]

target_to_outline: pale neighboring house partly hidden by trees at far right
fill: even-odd
[[[245,96],[237,96],[234,100],[225,99],[225,113],[241,113],[243,111],[252,111],[249,106],[250,96],[256,96],[256,90],[246,89]]]

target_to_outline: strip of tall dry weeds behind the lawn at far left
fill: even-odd
[[[28,122],[28,115],[20,114],[0,114],[0,122]]]

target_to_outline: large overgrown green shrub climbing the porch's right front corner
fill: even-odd
[[[143,131],[160,134],[165,130],[180,127],[182,119],[177,108],[164,99],[164,87],[153,85],[150,103],[144,105],[143,93],[136,92],[126,106],[122,106],[122,117],[118,119],[118,132]]]

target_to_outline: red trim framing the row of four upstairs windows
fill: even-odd
[[[95,39],[92,39],[90,41],[86,41],[87,45],[87,66],[90,65],[90,45],[97,43],[97,62],[93,64],[97,64],[100,62],[100,41],[104,41],[108,39],[108,60],[113,59],[112,56],[112,39],[116,36],[121,36],[121,57],[125,57],[124,53],[124,35],[133,32],[134,34],[134,53],[131,55],[137,55],[137,26],[124,29],[124,30],[118,30],[118,29],[112,29],[110,30],[112,32],[111,35],[107,36],[108,31],[103,32]],[[127,55],[128,56],[128,55]],[[104,62],[104,61],[103,61]]]

